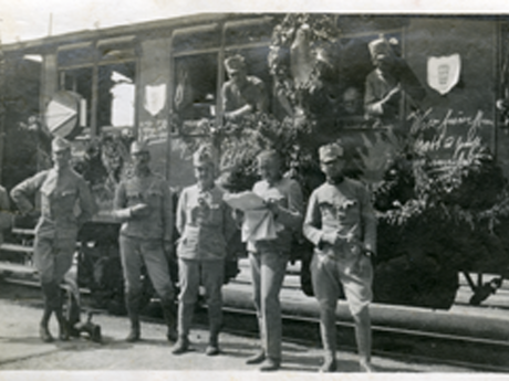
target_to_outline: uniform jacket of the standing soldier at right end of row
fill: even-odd
[[[310,197],[303,230],[320,254],[337,256],[349,248],[346,240],[339,246],[324,243],[325,233],[351,234],[374,252],[376,218],[368,191],[361,182],[347,178],[337,184],[325,182]]]

